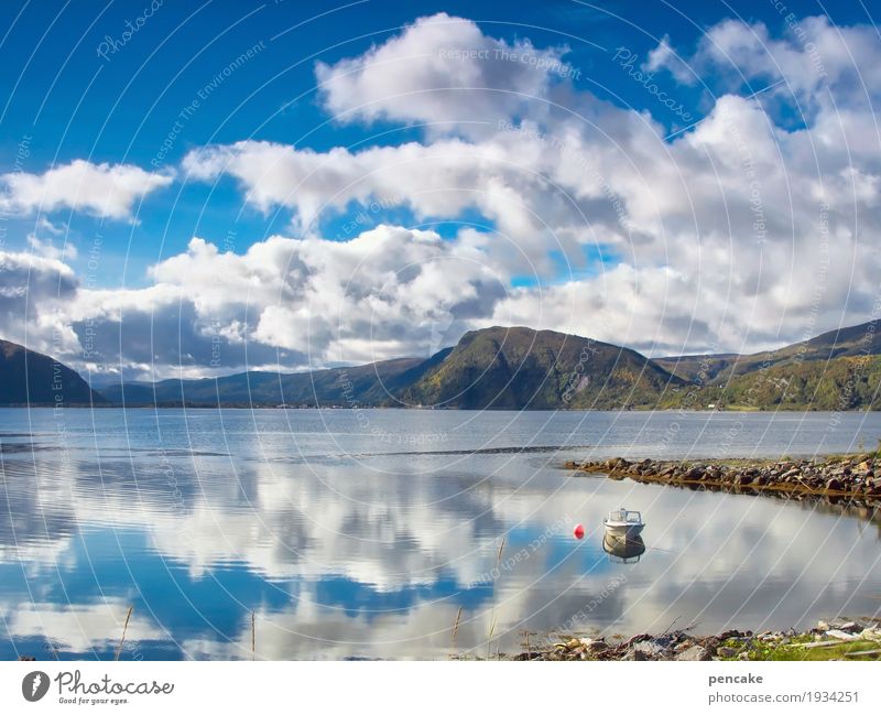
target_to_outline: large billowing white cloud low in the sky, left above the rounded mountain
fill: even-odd
[[[487,315],[505,294],[478,251],[393,226],[350,241],[275,236],[244,254],[194,239],[152,275],[196,295],[197,316],[230,342],[293,350],[302,365],[421,353],[433,327],[467,329],[475,303]]]

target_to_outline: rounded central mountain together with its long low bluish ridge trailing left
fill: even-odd
[[[457,409],[653,407],[687,384],[634,350],[551,331],[493,327],[466,334],[427,360],[281,375],[242,372],[202,380],[105,388],[129,405],[374,405]]]

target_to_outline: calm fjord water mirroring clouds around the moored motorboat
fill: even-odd
[[[864,512],[561,465],[880,436],[878,413],[0,410],[0,657],[112,658],[130,606],[122,660],[486,657],[524,630],[875,615]],[[646,521],[638,562],[602,550],[619,506]]]

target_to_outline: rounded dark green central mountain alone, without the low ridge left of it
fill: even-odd
[[[654,407],[686,384],[634,350],[525,327],[467,333],[406,388],[410,404],[460,409]]]

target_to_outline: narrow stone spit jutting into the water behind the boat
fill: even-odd
[[[567,462],[569,469],[693,488],[842,498],[881,506],[878,453],[814,458]]]

